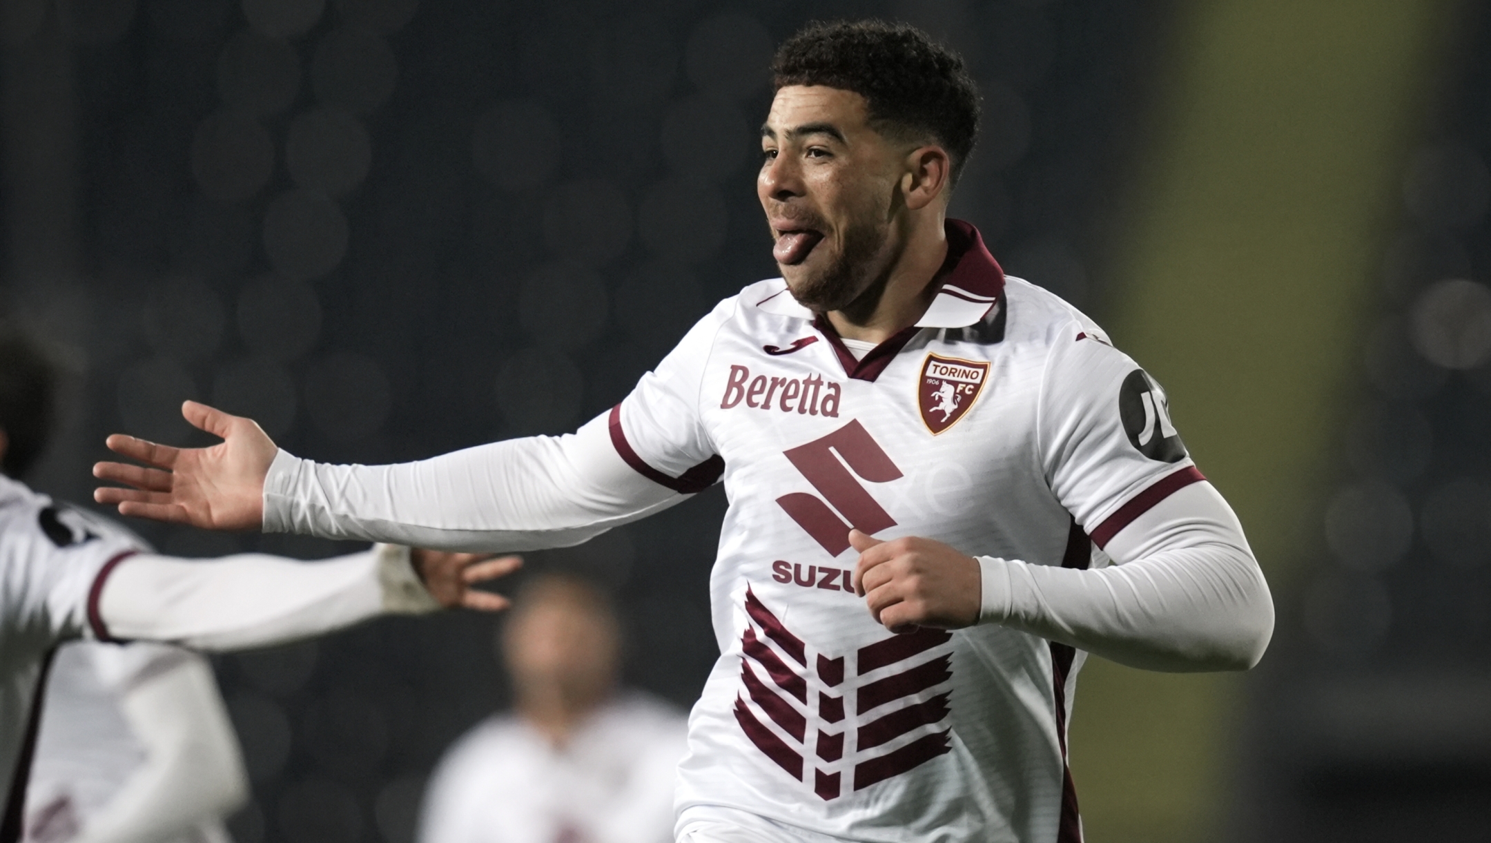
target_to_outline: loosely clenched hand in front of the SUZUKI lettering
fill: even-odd
[[[930,539],[883,542],[853,530],[859,551],[854,591],[865,598],[875,622],[892,633],[917,627],[957,630],[978,622],[983,571],[978,560]]]

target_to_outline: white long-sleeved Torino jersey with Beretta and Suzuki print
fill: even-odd
[[[690,716],[680,839],[1079,840],[1082,651],[1243,668],[1273,607],[1160,386],[1087,316],[1005,279],[972,227],[947,233],[927,312],[863,357],[765,281],[576,434],[382,467],[282,452],[264,527],[561,546],[723,477],[720,658]],[[850,588],[850,527],[977,557],[983,622],[877,625]]]

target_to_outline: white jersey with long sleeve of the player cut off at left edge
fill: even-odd
[[[261,554],[173,560],[0,476],[0,840],[19,840],[25,779],[16,770],[30,768],[40,689],[61,642],[249,649],[434,609],[406,548],[318,562]]]

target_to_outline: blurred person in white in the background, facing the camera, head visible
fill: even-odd
[[[498,640],[514,712],[446,752],[425,795],[422,843],[663,843],[684,718],[617,689],[620,628],[589,580],[543,574]]]

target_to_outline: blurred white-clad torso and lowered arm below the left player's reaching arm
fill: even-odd
[[[228,843],[249,780],[206,658],[151,642],[64,646],[27,788],[30,843]]]

